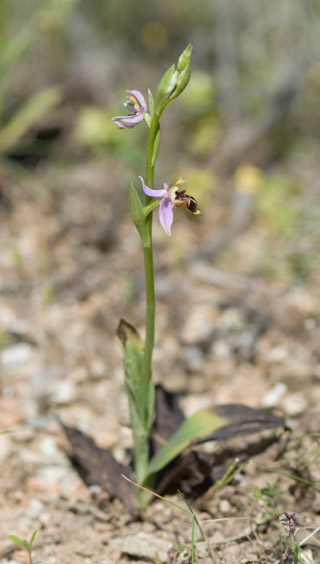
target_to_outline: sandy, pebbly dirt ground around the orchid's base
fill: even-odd
[[[318,149],[301,152],[285,171],[315,214]],[[69,462],[59,423],[129,463],[114,335],[121,317],[143,334],[144,283],[126,209],[128,177],[111,158],[62,172],[41,164],[35,172],[55,189],[13,184],[1,201],[0,429],[10,432],[0,435],[0,563],[26,562],[8,535],[30,538],[35,529],[34,564],[188,562],[190,516],[157,500],[138,518],[88,489]],[[284,511],[296,514],[298,540],[320,526],[317,243],[308,221],[293,244],[253,207],[241,232],[202,257],[232,216],[226,190],[222,184],[200,198],[201,216],[178,212],[170,239],[155,216],[154,377],[180,394],[186,414],[243,403],[285,417],[291,431],[252,456],[206,510],[195,505],[211,546],[210,554],[206,542],[196,543],[196,562],[276,563],[281,539],[286,544]],[[306,552],[320,561],[319,532]],[[292,552],[283,558],[293,562]]]

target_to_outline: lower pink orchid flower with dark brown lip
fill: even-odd
[[[192,211],[192,213],[199,214],[197,210],[197,200],[188,194],[185,194],[185,190],[179,190],[179,186],[185,182],[182,178],[179,178],[176,182],[168,186],[168,184],[163,185],[163,190],[153,190],[146,186],[145,181],[142,176],[139,176],[142,184],[142,188],[147,196],[153,198],[162,198],[159,205],[159,219],[160,223],[167,235],[171,235],[171,226],[173,223],[173,208],[180,208],[186,205],[187,208]]]

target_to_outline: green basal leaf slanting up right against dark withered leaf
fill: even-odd
[[[189,446],[191,441],[205,437],[215,429],[225,425],[226,422],[225,419],[208,410],[200,409],[197,411],[192,417],[182,423],[167,444],[151,459],[146,477],[164,468]]]

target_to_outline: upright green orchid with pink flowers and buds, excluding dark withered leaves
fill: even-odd
[[[140,176],[145,194],[144,202],[133,183],[129,187],[129,205],[132,220],[138,230],[144,253],[146,287],[146,336],[142,342],[135,328],[120,321],[117,336],[124,353],[126,390],[129,400],[131,426],[134,440],[136,481],[144,487],[153,487],[156,475],[177,457],[195,438],[208,435],[223,424],[222,418],[201,410],[184,421],[162,449],[150,456],[150,437],[154,421],[155,387],[152,380],[152,351],[155,334],[155,289],[152,249],[152,216],[159,206],[159,219],[165,233],[170,236],[175,208],[183,205],[194,214],[200,213],[193,196],[182,189],[184,179],[178,178],[163,188],[154,188],[154,169],[160,147],[160,118],[167,105],[186,88],[190,78],[192,46],[180,55],[177,66],[172,65],[159,82],[155,96],[149,91],[148,104],[138,90],[128,90],[124,106],[129,112],[113,118],[120,129],[132,129],[145,121],[149,128],[145,177]],[[139,490],[138,502],[149,501],[146,490]]]

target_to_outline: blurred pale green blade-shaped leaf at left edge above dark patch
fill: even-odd
[[[61,100],[61,91],[57,87],[41,90],[26,102],[11,118],[0,133],[0,152],[7,151],[53,106]]]

